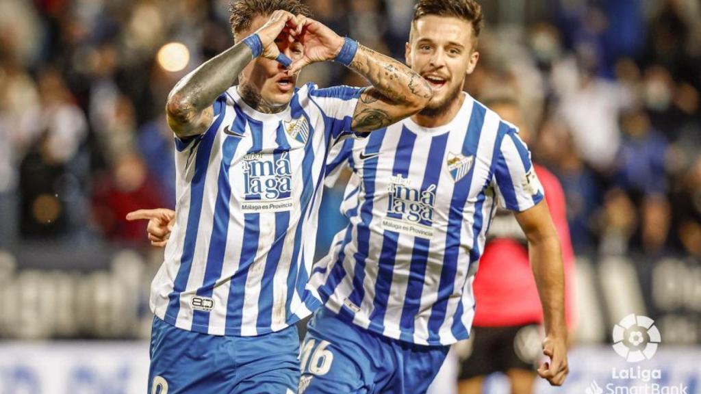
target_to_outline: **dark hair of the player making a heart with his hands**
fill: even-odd
[[[309,7],[299,0],[231,0],[229,3],[229,23],[233,33],[251,27],[257,15],[271,15],[274,11],[288,11],[294,15],[311,16]]]

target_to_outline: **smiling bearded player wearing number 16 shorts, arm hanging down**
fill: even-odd
[[[516,212],[528,240],[550,358],[538,374],[564,382],[564,275],[543,190],[515,126],[462,91],[481,20],[474,0],[418,1],[407,64],[433,99],[329,161],[329,171],[353,169],[349,224],[310,278],[324,306],[308,325],[299,393],[425,392],[449,345],[468,338],[498,206]]]

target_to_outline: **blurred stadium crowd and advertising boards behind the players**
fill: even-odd
[[[227,2],[0,1],[0,393],[143,392],[163,254],[124,216],[174,205],[165,97],[231,45]],[[403,58],[413,1],[307,3]],[[629,313],[655,319],[665,381],[701,392],[701,4],[481,3],[465,88],[518,97],[533,158],[566,193],[579,317],[559,392],[625,367],[608,344]],[[337,64],[301,79],[363,84]],[[343,226],[341,193],[325,194],[318,255]]]

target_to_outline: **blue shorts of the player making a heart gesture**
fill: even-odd
[[[218,337],[154,317],[148,393],[297,393],[298,357],[294,325],[258,337]]]

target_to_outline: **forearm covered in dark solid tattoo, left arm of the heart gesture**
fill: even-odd
[[[172,120],[170,124],[181,128],[182,135],[188,135],[200,113],[233,85],[251,59],[250,47],[237,43],[184,76],[168,95],[165,110]]]

